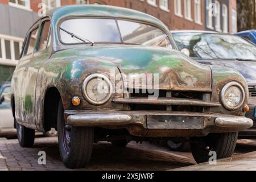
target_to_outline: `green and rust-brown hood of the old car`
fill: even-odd
[[[128,78],[146,74],[153,76],[152,86],[163,90],[204,91],[212,90],[212,73],[207,65],[199,64],[182,53],[152,46],[94,46],[79,47],[55,53],[55,57],[76,55],[87,64],[106,61],[115,64],[125,85]],[[148,84],[140,82],[133,88],[146,89]],[[131,85],[128,86],[129,88]]]

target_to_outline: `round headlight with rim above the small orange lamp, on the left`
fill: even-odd
[[[108,102],[112,95],[112,89],[109,78],[102,74],[90,75],[82,84],[84,98],[93,105],[102,105]]]

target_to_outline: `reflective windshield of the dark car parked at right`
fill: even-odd
[[[179,49],[187,48],[195,60],[256,60],[256,47],[238,36],[192,32],[172,35]]]

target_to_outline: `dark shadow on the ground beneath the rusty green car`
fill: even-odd
[[[94,144],[92,159],[86,170],[168,170],[193,164],[190,158],[171,151],[156,150],[155,146],[131,143],[127,147],[114,147],[110,143]],[[57,140],[35,142],[34,152],[45,151],[52,163],[61,162]]]

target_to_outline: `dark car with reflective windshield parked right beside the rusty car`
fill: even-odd
[[[250,111],[246,117],[253,119],[251,129],[241,131],[241,136],[256,136],[256,47],[238,36],[212,31],[172,31],[177,47],[202,64],[221,65],[237,69],[249,86]],[[171,149],[187,150],[181,142],[168,142]],[[185,147],[184,147],[185,146]]]

